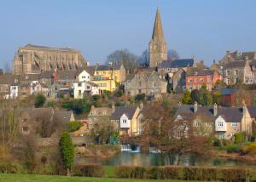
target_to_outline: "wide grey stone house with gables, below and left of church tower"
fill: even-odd
[[[159,97],[165,94],[167,82],[160,78],[156,71],[143,70],[128,78],[125,81],[125,94],[135,96],[137,94],[146,94]]]

